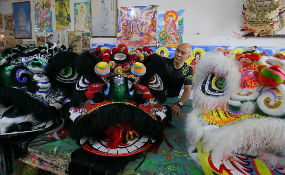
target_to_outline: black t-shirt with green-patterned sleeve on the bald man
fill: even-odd
[[[182,85],[192,85],[193,70],[187,64],[176,69],[173,65],[173,58],[163,59],[166,63],[163,74],[163,86],[166,88],[167,97],[178,97]]]

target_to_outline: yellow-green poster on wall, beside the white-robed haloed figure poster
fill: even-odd
[[[71,29],[70,1],[56,0],[54,1],[54,6],[55,6],[56,30]]]

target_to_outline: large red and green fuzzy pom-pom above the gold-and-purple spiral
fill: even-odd
[[[278,66],[263,68],[258,77],[259,81],[266,86],[277,86],[285,81],[285,74]]]

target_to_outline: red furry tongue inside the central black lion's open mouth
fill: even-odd
[[[116,124],[114,126],[109,127],[104,132],[107,135],[107,138],[104,139],[107,143],[107,148],[116,149],[118,145],[126,146],[126,143],[123,143],[124,133],[128,133],[129,131],[134,131],[134,129],[128,124]]]

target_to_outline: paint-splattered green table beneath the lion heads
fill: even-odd
[[[177,101],[177,98],[168,98],[166,104],[171,106]],[[137,171],[135,169],[143,158],[130,162],[122,174],[203,174],[196,162],[188,158],[188,152],[186,151],[184,119],[191,110],[192,101],[188,100],[183,105],[180,115],[173,116],[172,124],[174,127],[165,130],[165,135],[174,146],[173,150],[167,146],[166,142],[163,142],[157,154],[147,154]],[[66,137],[60,141],[29,147],[29,155],[22,161],[55,174],[68,174],[67,169],[71,153],[78,148],[79,146],[74,140]]]

